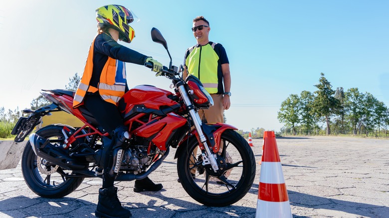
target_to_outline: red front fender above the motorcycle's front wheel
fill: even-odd
[[[221,134],[225,130],[227,130],[227,129],[238,130],[235,126],[232,126],[232,125],[229,125],[226,123],[211,123],[211,124],[202,123],[202,129],[203,129],[204,134],[207,138],[207,142],[208,142],[209,146],[212,148],[214,153],[219,151]],[[188,139],[188,137],[189,137],[189,139]],[[186,143],[186,142],[189,142],[190,140],[194,140],[193,137],[196,138],[200,149],[201,150],[204,149],[203,144],[201,143],[200,138],[198,136],[197,130],[192,129],[192,131],[187,136],[185,136],[183,138],[183,140],[181,140],[181,142],[179,143],[176,154],[174,156],[175,159],[180,155],[182,150],[186,150],[186,149],[184,149],[188,146],[188,143]]]

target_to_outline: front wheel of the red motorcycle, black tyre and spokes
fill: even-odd
[[[229,206],[243,198],[255,177],[255,157],[247,141],[232,129],[221,134],[216,154],[219,172],[214,172],[209,164],[202,165],[197,147],[198,141],[192,137],[177,160],[185,191],[197,202],[211,207]]]

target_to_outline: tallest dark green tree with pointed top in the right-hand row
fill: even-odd
[[[325,117],[327,124],[326,134],[329,135],[331,133],[330,116],[339,107],[339,101],[333,96],[335,91],[332,90],[330,82],[324,77],[324,73],[320,75],[319,84],[314,85],[319,90],[315,91],[316,96],[313,102],[313,110],[318,117]]]

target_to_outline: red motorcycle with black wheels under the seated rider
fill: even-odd
[[[193,76],[182,79],[183,67],[172,66],[166,40],[156,28],[154,42],[168,51],[170,67],[163,76],[172,80],[175,93],[148,85],[136,86],[118,103],[125,125],[131,134],[126,141],[117,181],[143,179],[156,170],[177,148],[177,171],[186,192],[206,206],[223,207],[239,201],[252,186],[255,158],[247,141],[236,128],[223,123],[205,124],[198,109],[213,105],[201,82]],[[145,66],[151,68],[147,63]],[[40,117],[66,111],[84,125],[74,128],[52,124],[29,136],[22,158],[22,174],[28,187],[45,198],[61,198],[77,189],[84,178],[102,178],[104,144],[109,134],[84,107],[73,109],[74,92],[43,90],[51,105],[24,110],[12,134],[21,142],[40,123]],[[199,147],[199,149],[195,149]],[[194,153],[197,150],[197,153]],[[191,170],[196,169],[193,176]],[[175,181],[176,182],[176,181]]]

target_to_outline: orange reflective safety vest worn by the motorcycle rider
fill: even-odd
[[[95,93],[99,91],[101,98],[114,105],[119,102],[126,90],[126,66],[125,63],[111,57],[108,57],[103,71],[101,72],[98,88],[90,86],[89,82],[93,72],[93,50],[96,38],[89,48],[88,58],[86,59],[84,73],[78,84],[76,95],[73,99],[73,108],[83,105],[87,92]]]

